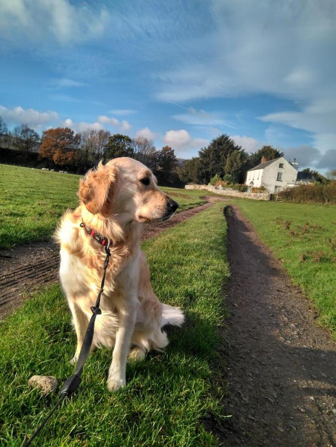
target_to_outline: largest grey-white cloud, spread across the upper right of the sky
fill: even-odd
[[[290,99],[295,112],[277,111],[263,121],[312,132],[314,145],[335,149],[334,6],[329,0],[248,0],[242,8],[234,0],[212,0],[213,32],[203,35],[207,45],[195,46],[184,64],[158,76],[157,98],[180,103],[261,93]],[[195,122],[190,113],[176,117]]]

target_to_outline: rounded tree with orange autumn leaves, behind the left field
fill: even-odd
[[[61,166],[73,165],[78,158],[81,135],[69,127],[48,129],[42,133],[40,155]]]

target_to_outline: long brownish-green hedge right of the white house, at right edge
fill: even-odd
[[[295,203],[336,203],[336,182],[295,186],[281,191],[279,197]]]

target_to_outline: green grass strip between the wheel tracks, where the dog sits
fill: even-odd
[[[128,384],[106,388],[111,352],[94,352],[81,391],[57,410],[37,446],[212,446],[200,419],[219,415],[214,383],[223,318],[222,285],[229,276],[226,223],[220,204],[143,244],[158,296],[180,305],[186,323],[169,328],[167,352],[127,366]],[[0,327],[0,444],[20,446],[56,402],[27,386],[32,374],[73,372],[70,311],[53,286],[26,301]],[[223,386],[223,385],[221,385]]]

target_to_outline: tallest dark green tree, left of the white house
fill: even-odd
[[[225,175],[225,166],[231,152],[242,148],[228,135],[223,134],[212,140],[210,145],[199,151],[200,159],[200,180],[207,184],[211,177],[218,174],[220,177]]]

